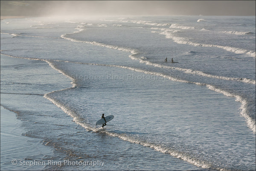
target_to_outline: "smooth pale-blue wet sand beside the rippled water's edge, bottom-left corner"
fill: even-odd
[[[44,170],[52,155],[51,148],[42,144],[41,139],[23,136],[26,133],[23,121],[16,114],[1,106],[1,171]],[[35,159],[31,160],[31,159]],[[44,158],[44,160],[42,160]]]

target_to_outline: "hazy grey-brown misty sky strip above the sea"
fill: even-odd
[[[1,16],[254,15],[255,0],[1,0]]]

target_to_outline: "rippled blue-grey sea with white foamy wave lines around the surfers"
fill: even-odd
[[[1,168],[255,170],[255,35],[255,16],[1,20],[1,111],[46,151],[1,142]]]

